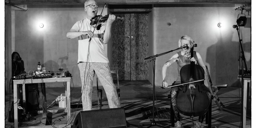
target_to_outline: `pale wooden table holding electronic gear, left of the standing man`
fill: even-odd
[[[55,127],[71,127],[71,111],[70,111],[70,85],[71,85],[71,77],[54,77],[54,78],[44,78],[44,79],[22,79],[22,80],[13,80],[13,101],[14,101],[14,127],[18,127],[18,108],[17,108],[17,95],[18,90],[17,86],[18,84],[22,84],[22,92],[23,92],[23,105],[24,108],[26,108],[26,94],[25,94],[25,84],[31,84],[31,83],[41,83],[41,92],[42,92],[42,105],[44,107],[43,113],[47,112],[57,112],[57,111],[47,111],[47,103],[46,103],[46,96],[45,96],[45,83],[50,82],[67,82],[67,86],[65,86],[65,94],[67,99],[67,120],[68,124],[60,124],[60,125],[54,125]],[[43,93],[44,92],[44,93]],[[26,109],[24,109],[24,113],[26,113]],[[32,126],[32,127],[42,127],[42,126]],[[52,127],[51,125],[43,126],[43,127]]]

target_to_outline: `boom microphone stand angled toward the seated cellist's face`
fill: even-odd
[[[153,55],[153,56],[144,58],[144,60],[150,59],[150,58],[152,58],[152,60],[153,60],[153,118],[152,118],[150,124],[147,124],[147,125],[143,124],[142,126],[149,126],[149,127],[151,127],[151,126],[159,126],[159,127],[163,127],[163,128],[168,128],[168,127],[165,127],[165,126],[157,125],[155,123],[155,115],[154,115],[155,114],[155,60],[156,60],[156,57],[158,57],[158,56],[165,55],[165,54],[167,54],[169,52],[173,52],[173,51],[179,50],[181,48],[186,48],[187,46],[188,45],[186,44],[186,45],[183,45],[183,46],[181,46],[181,47],[179,47],[177,49],[174,49],[174,50],[171,50],[171,51],[167,51],[167,52],[161,53],[159,55],[157,54],[157,55]],[[152,60],[150,60],[150,61],[152,61]]]

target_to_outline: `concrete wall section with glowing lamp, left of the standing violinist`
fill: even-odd
[[[99,6],[98,14],[103,5]],[[107,12],[104,9],[102,15]],[[36,70],[37,62],[47,71],[69,70],[75,86],[81,86],[77,66],[78,38],[67,39],[66,34],[76,21],[86,18],[83,5],[76,6],[28,6],[27,11],[13,11],[14,29],[12,39],[17,51],[24,60],[25,71]],[[39,24],[44,27],[40,28]],[[112,52],[112,51],[111,51]],[[31,73],[32,71],[30,71]],[[96,82],[95,84],[96,85]],[[62,83],[46,86],[59,87]]]

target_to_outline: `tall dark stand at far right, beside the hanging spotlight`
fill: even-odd
[[[240,43],[240,47],[241,47],[241,53],[242,53],[242,56],[239,56],[239,59],[240,58],[242,58],[242,69],[241,69],[241,82],[242,82],[242,97],[243,97],[243,95],[244,95],[244,93],[243,93],[243,89],[244,89],[244,76],[243,76],[243,74],[244,74],[244,69],[243,69],[243,67],[245,66],[245,70],[247,71],[247,65],[246,65],[246,62],[245,62],[245,57],[244,57],[244,52],[243,52],[243,46],[242,46],[242,40],[240,39],[240,33],[239,33],[239,28],[238,27],[236,27],[236,30],[237,30],[237,33],[238,33],[238,37],[239,37],[239,43]],[[239,60],[238,60],[239,61]],[[247,85],[246,85],[247,86]],[[247,94],[246,94],[247,95]],[[247,101],[243,101],[243,98],[242,98],[242,106],[243,106],[243,102],[247,102]],[[241,107],[241,119],[242,119],[242,117],[243,117],[243,115],[244,115],[244,113],[243,113],[243,107]],[[246,113],[245,113],[246,114]],[[245,122],[243,122],[243,119],[242,119],[242,126],[243,126],[243,123],[245,123]]]

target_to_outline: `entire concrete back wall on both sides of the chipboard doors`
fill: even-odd
[[[235,7],[241,5],[154,5],[149,19],[154,28],[149,28],[154,38],[149,38],[149,54],[156,55],[178,47],[178,39],[189,35],[197,43],[198,51],[204,63],[209,67],[212,81],[215,84],[227,83],[237,85],[239,70],[239,40],[236,29],[236,19],[241,11]],[[103,5],[99,7],[100,14]],[[103,15],[107,14],[107,9]],[[240,27],[246,63],[250,68],[250,12],[246,14],[249,27]],[[28,6],[27,11],[12,12],[12,51],[20,53],[25,63],[25,71],[36,70],[37,62],[49,71],[58,71],[61,67],[69,70],[75,86],[81,86],[77,66],[78,39],[67,39],[66,33],[76,21],[86,17],[83,5],[76,6]],[[167,26],[170,22],[172,25]],[[223,27],[218,28],[221,22]],[[39,28],[39,23],[44,28]],[[111,44],[109,44],[110,46]],[[161,86],[162,65],[176,53],[169,53],[156,60],[155,83]],[[112,50],[108,47],[109,60],[112,60]],[[110,63],[111,64],[111,63]],[[149,62],[151,65],[151,62]],[[150,66],[150,68],[152,68]],[[30,71],[31,72],[31,71]],[[167,70],[168,81],[171,84],[177,78],[177,64]],[[149,80],[152,83],[152,70],[149,70]],[[95,83],[95,82],[94,82]],[[95,85],[95,84],[94,84]],[[47,86],[63,86],[47,84]]]

